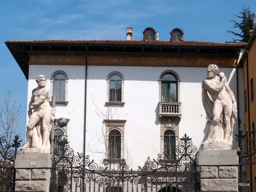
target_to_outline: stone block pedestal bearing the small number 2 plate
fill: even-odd
[[[48,153],[17,154],[16,192],[49,192],[52,155]]]

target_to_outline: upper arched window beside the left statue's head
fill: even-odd
[[[67,75],[63,71],[56,71],[51,78],[52,95],[56,103],[67,105]]]

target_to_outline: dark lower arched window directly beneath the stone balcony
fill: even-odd
[[[176,148],[176,135],[174,131],[168,129],[164,132],[164,152],[166,152],[165,159],[174,159]]]

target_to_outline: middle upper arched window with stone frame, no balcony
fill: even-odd
[[[107,78],[107,105],[124,105],[124,77],[117,71]]]

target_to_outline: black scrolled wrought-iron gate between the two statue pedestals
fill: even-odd
[[[167,153],[157,159],[129,169],[124,160],[116,169],[99,166],[89,156],[75,154],[66,140],[59,140],[54,152],[50,191],[88,192],[169,192],[200,191],[196,171],[197,148],[184,135],[173,159]]]

